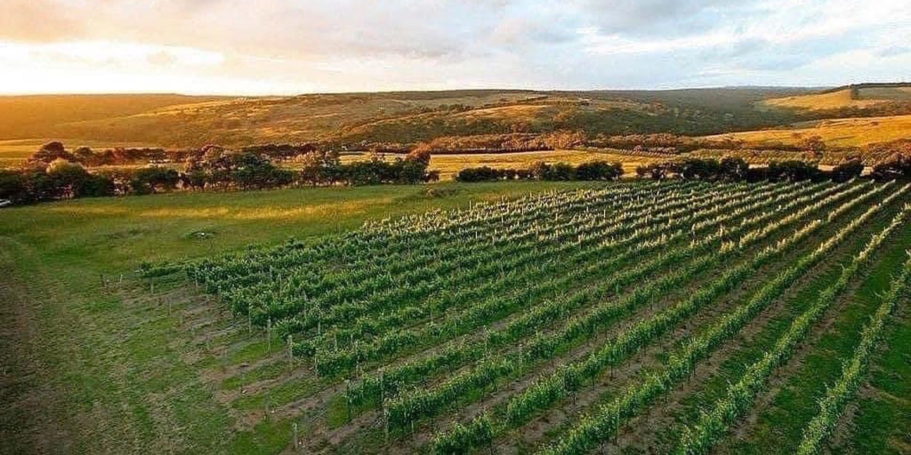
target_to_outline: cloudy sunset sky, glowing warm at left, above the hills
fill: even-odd
[[[0,0],[0,93],[911,80],[908,0]]]

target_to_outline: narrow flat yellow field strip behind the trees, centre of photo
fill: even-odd
[[[386,155],[387,159],[394,159],[395,156]],[[344,155],[343,162],[366,159],[366,155]],[[643,163],[660,161],[658,158],[650,157],[630,157],[628,155],[619,155],[609,152],[582,151],[582,150],[548,150],[541,152],[518,152],[518,153],[483,153],[483,154],[464,154],[464,155],[434,155],[430,159],[430,170],[440,171],[441,180],[452,180],[458,171],[466,167],[494,167],[498,169],[522,169],[530,167],[536,161],[546,163],[564,162],[574,166],[589,161],[619,161],[623,163],[623,171],[626,175],[636,173],[636,167]]]

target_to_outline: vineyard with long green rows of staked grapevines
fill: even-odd
[[[143,272],[152,294],[194,296],[194,365],[253,446],[820,453],[852,446],[906,305],[909,196],[608,184]],[[775,419],[796,391],[799,417]]]

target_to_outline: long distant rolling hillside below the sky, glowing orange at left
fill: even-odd
[[[199,147],[268,142],[413,143],[438,136],[584,130],[707,135],[801,119],[763,111],[801,88],[658,91],[455,90],[220,97],[0,97],[0,140],[68,138]]]

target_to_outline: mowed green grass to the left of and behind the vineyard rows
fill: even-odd
[[[599,184],[444,183],[430,186],[433,194],[425,186],[175,193],[0,210],[0,453],[214,453],[262,445],[253,441],[260,436],[232,430],[229,413],[189,366],[193,335],[133,278],[142,262],[592,186]]]

